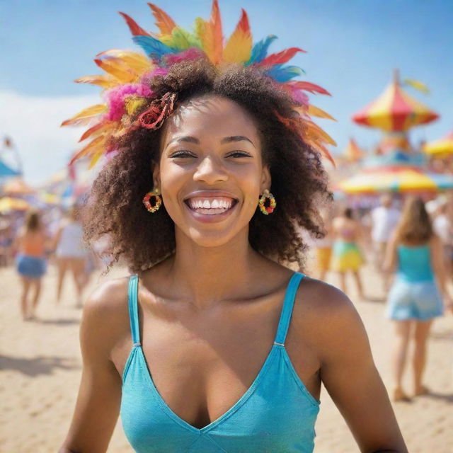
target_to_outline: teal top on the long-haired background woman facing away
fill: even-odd
[[[398,254],[398,277],[407,282],[425,282],[434,280],[432,273],[430,246],[396,247]]]

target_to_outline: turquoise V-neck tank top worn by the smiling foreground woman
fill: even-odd
[[[285,349],[302,277],[295,272],[289,280],[275,341],[251,386],[228,411],[200,429],[176,415],[154,386],[139,338],[138,277],[130,278],[133,346],[122,375],[120,413],[136,452],[313,452],[321,401],[299,379]]]

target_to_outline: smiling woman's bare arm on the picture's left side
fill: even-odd
[[[59,453],[104,453],[115,428],[122,380],[110,360],[113,291],[117,294],[117,287],[108,282],[84,304],[80,326],[84,368],[71,426]]]

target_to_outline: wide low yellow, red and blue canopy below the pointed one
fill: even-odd
[[[420,168],[370,168],[338,184],[345,193],[437,191],[453,188],[453,175]]]

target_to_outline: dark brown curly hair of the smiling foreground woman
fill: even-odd
[[[249,223],[251,246],[279,263],[297,262],[304,268],[307,248],[301,229],[323,237],[319,208],[333,200],[328,175],[318,151],[281,121],[294,118],[294,101],[270,77],[251,67],[214,67],[207,59],[178,62],[165,75],[154,76],[151,90],[157,97],[176,93],[178,105],[195,96],[212,93],[241,105],[258,126],[263,164],[268,164],[270,192],[277,209],[263,216],[258,209]],[[141,108],[139,117],[147,106]],[[280,117],[280,120],[279,120]],[[139,272],[174,253],[175,226],[165,209],[150,214],[142,204],[152,188],[152,168],[159,163],[162,129],[131,128],[115,143],[119,151],[94,181],[84,207],[85,238],[93,241],[110,236],[106,251],[113,263],[124,260]]]

